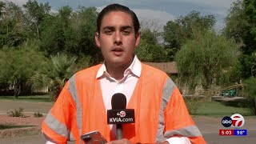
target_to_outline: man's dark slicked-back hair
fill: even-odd
[[[134,23],[134,30],[135,30],[135,34],[138,34],[138,30],[139,30],[139,22],[138,22],[138,17],[137,15],[134,13],[133,10],[130,10],[129,7],[127,6],[122,6],[119,4],[110,4],[109,6],[106,6],[99,14],[98,14],[98,18],[97,18],[97,31],[98,33],[100,32],[100,28],[102,26],[102,19],[106,14],[109,14],[110,12],[113,11],[122,11],[125,12],[127,14],[130,14],[130,17],[133,20]]]

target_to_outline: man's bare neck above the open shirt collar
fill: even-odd
[[[125,65],[118,66],[117,64],[110,64],[106,62],[106,71],[110,74],[111,77],[120,81],[124,77],[125,70],[130,66],[134,59],[131,59],[130,62],[127,62]]]

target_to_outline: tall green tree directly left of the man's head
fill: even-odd
[[[72,17],[72,26],[77,34],[76,51],[78,58],[90,57],[90,65],[102,62],[102,53],[94,42],[96,32],[96,20],[98,13],[95,7],[79,7],[78,12]],[[70,52],[71,53],[71,52]]]

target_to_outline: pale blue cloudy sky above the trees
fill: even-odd
[[[0,0],[14,2],[19,6],[27,0]],[[53,11],[62,6],[71,6],[74,10],[78,6],[95,6],[98,11],[111,3],[119,3],[130,7],[138,15],[140,21],[157,23],[157,29],[162,30],[166,22],[179,16],[185,16],[192,10],[199,11],[202,15],[212,14],[216,18],[216,30],[225,26],[224,18],[232,2],[236,0],[38,0],[38,2],[50,2]]]

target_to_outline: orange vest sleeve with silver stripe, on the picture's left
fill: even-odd
[[[78,131],[78,123],[81,124],[81,122],[77,122],[77,110],[74,111],[76,104],[70,94],[72,91],[68,90],[69,86],[72,86],[70,81],[66,82],[57,101],[42,123],[42,132],[58,143],[67,140],[79,141],[81,135]]]

